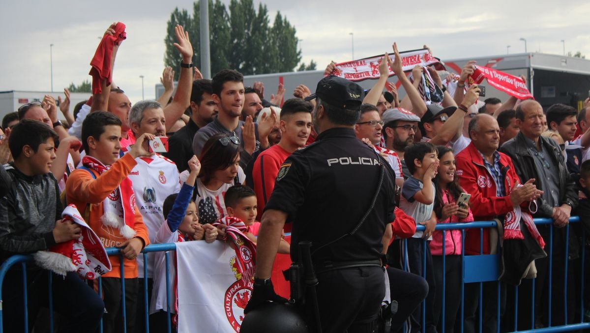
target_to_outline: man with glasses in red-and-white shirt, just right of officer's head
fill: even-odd
[[[401,187],[404,184],[404,174],[398,154],[395,151],[379,146],[381,143],[383,121],[381,120],[379,107],[372,104],[360,105],[360,118],[355,125],[356,137],[359,140],[369,140],[373,148],[388,161],[391,169],[395,172],[395,184]]]

